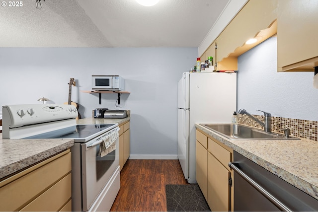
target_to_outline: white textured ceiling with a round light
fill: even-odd
[[[0,6],[0,47],[198,47],[228,1],[27,0]]]

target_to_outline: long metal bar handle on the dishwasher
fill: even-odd
[[[238,163],[230,162],[229,166],[234,171],[236,171],[244,180],[246,180],[251,186],[253,186],[258,192],[260,192],[264,197],[266,197],[270,202],[272,202],[277,208],[279,208],[282,211],[292,212],[292,210],[290,208],[288,208],[285,204],[283,204],[276,197],[274,197],[272,194],[270,194],[268,191],[266,191],[263,187],[261,187],[258,183],[256,183],[254,180],[252,180],[248,175],[246,175],[244,172],[242,172],[238,168],[237,164]]]

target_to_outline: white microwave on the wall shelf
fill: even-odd
[[[119,75],[91,75],[92,90],[125,90],[125,79]]]

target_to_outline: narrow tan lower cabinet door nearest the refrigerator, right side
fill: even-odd
[[[196,141],[196,180],[205,199],[208,197],[208,150]]]

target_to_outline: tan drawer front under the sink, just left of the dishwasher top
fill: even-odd
[[[212,139],[208,139],[208,150],[212,155],[217,158],[222,165],[230,170],[229,162],[231,161],[231,152],[220,146],[218,143],[213,141]]]

